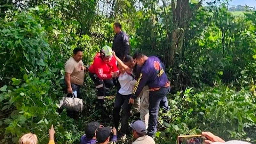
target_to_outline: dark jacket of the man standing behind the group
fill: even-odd
[[[112,50],[120,60],[124,60],[124,56],[130,54],[129,36],[125,32],[121,31],[115,35]]]

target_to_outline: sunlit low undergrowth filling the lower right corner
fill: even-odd
[[[160,112],[163,132],[158,132],[159,143],[174,143],[182,134],[210,131],[224,140],[255,140],[255,96],[248,90],[236,92],[225,85],[206,87],[170,95],[171,111]]]

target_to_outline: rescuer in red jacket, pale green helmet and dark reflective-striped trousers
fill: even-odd
[[[103,105],[106,87],[114,86],[112,78],[116,78],[119,75],[116,59],[113,57],[112,49],[109,46],[105,45],[100,53],[96,54],[92,65],[89,67],[89,72],[98,90],[97,109],[105,112]]]

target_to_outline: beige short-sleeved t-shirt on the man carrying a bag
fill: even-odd
[[[77,62],[73,57],[65,63],[65,72],[70,73],[72,84],[83,85],[84,83],[84,63],[82,60]]]

